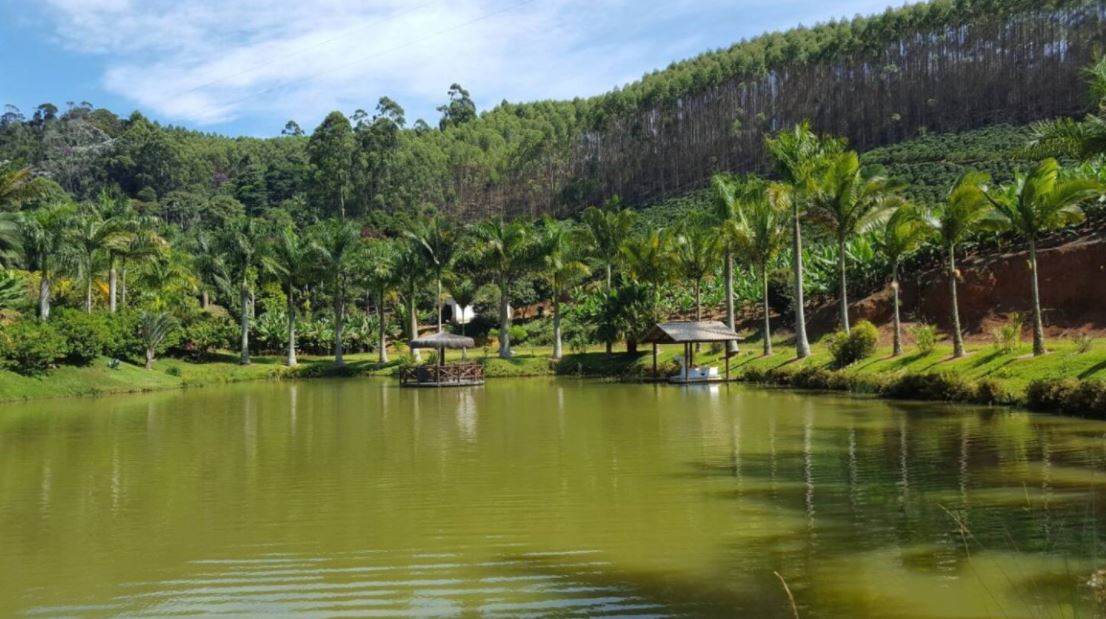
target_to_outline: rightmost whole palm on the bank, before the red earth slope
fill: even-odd
[[[1027,175],[1016,175],[1005,190],[993,195],[984,191],[1000,224],[1029,243],[1034,356],[1046,352],[1041,290],[1037,285],[1037,241],[1043,232],[1082,222],[1084,214],[1079,204],[1102,197],[1104,190],[1106,188],[1102,183],[1091,179],[1060,180],[1060,164],[1055,159],[1045,159]]]

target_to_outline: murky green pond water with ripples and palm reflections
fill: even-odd
[[[0,617],[1097,617],[1104,491],[1106,423],[739,386],[8,405]]]

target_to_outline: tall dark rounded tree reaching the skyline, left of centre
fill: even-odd
[[[337,209],[346,217],[346,202],[353,190],[354,135],[349,120],[341,112],[331,112],[307,139],[312,196],[316,207]]]

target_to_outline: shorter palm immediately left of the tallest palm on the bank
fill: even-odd
[[[768,302],[769,267],[787,243],[791,191],[781,183],[768,187],[759,199],[743,202],[738,219],[728,225],[728,237],[738,254],[753,265],[761,277],[764,307],[764,355],[772,354],[771,307]]]

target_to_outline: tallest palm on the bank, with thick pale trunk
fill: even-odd
[[[795,125],[775,137],[765,139],[765,148],[775,161],[776,172],[787,183],[791,196],[792,271],[795,276],[795,354],[799,358],[811,355],[811,344],[806,338],[806,315],[803,298],[803,230],[802,214],[813,190],[814,179],[825,167],[827,157],[841,153],[839,140],[818,137],[811,130],[810,123]]]

